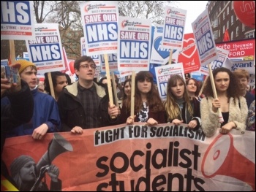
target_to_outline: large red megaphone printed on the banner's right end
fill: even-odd
[[[208,162],[214,162],[214,166],[207,166]],[[216,175],[234,177],[247,183],[255,191],[255,164],[236,150],[231,134],[219,134],[214,139],[203,157],[201,170],[206,178]]]

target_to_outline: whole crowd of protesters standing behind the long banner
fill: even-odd
[[[20,83],[10,84],[1,78],[1,152],[6,137],[31,135],[44,139],[45,134],[70,131],[83,134],[83,129],[121,123],[143,122],[146,126],[160,123],[187,123],[194,131],[200,129],[206,137],[228,134],[233,128],[255,131],[255,88],[249,92],[249,74],[243,69],[213,70],[217,97],[207,78],[200,98],[200,83],[191,77],[172,75],[167,82],[167,98],[162,101],[151,72],[138,72],[135,77],[134,111],[131,112],[132,80],[127,78],[118,90],[118,106],[110,104],[108,86],[103,77],[95,82],[96,64],[89,56],[75,60],[78,81],[71,82],[62,72],[45,74],[44,90],[38,86],[37,66],[19,60]],[[254,92],[253,92],[254,91]],[[113,91],[115,93],[115,91]],[[22,101],[21,101],[22,99]],[[24,112],[25,111],[25,112]],[[220,116],[223,118],[219,122]],[[31,161],[31,160],[30,160]],[[34,161],[31,161],[34,162]],[[2,167],[3,165],[3,167]],[[8,177],[1,161],[1,174]]]

